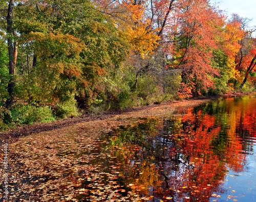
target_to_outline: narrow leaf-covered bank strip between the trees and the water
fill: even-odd
[[[221,96],[211,96],[211,97],[200,97],[200,98],[190,98],[185,100],[174,100],[169,102],[164,102],[160,104],[153,104],[149,106],[139,106],[129,109],[116,110],[116,111],[102,111],[96,114],[82,114],[78,117],[66,118],[62,120],[58,120],[55,122],[48,123],[35,123],[33,125],[26,125],[18,128],[11,128],[9,131],[0,132],[0,144],[4,144],[7,142],[13,142],[17,138],[22,136],[27,136],[29,134],[44,132],[64,127],[69,127],[74,124],[89,122],[89,121],[97,121],[97,120],[106,120],[113,119],[115,116],[121,117],[144,117],[144,116],[160,116],[160,114],[164,114],[168,112],[168,114],[172,114],[177,108],[188,108],[193,107],[202,102],[206,102],[212,99],[216,99],[218,97],[232,97],[232,96],[243,96],[243,95],[256,95],[256,92],[247,92],[247,93],[229,93]],[[167,108],[166,108],[167,107]],[[146,113],[142,110],[146,110]]]

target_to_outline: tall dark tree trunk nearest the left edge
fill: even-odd
[[[13,47],[13,30],[12,30],[13,6],[14,6],[14,1],[10,0],[9,6],[8,6],[7,18],[6,18],[7,19],[7,44],[8,44],[8,55],[9,55],[9,75],[10,75],[10,80],[7,86],[9,97],[6,100],[6,108],[10,108],[13,102],[13,91],[14,91],[14,85],[15,85],[15,80],[14,80],[15,62],[16,62],[15,57],[17,56],[16,44]]]

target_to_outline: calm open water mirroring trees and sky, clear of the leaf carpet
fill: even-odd
[[[144,201],[254,201],[256,97],[221,98],[102,138],[118,193]],[[84,185],[86,187],[86,183]]]

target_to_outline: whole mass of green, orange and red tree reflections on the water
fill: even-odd
[[[245,154],[238,131],[246,126],[243,134],[255,134],[255,110],[245,114],[232,100],[201,107],[189,109],[183,117],[142,120],[118,131],[112,146],[126,145],[126,152],[118,148],[114,155],[123,159],[120,170],[134,192],[148,200],[154,196],[206,201],[221,191],[227,167],[243,170]]]

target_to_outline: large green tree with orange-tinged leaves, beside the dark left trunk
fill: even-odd
[[[103,91],[102,76],[127,53],[116,28],[89,1],[23,1],[18,9],[20,42],[33,56],[24,83],[33,89],[25,87],[24,96],[47,102],[77,96],[90,104]]]

